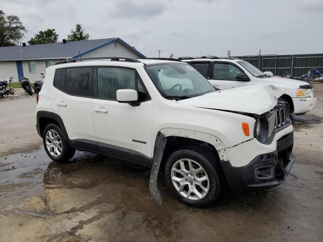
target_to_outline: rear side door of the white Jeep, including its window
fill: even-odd
[[[96,148],[92,119],[93,72],[93,67],[57,69],[53,85],[59,90],[53,112],[62,118],[71,140],[92,143]]]

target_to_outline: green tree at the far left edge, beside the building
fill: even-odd
[[[0,47],[16,45],[27,32],[19,17],[5,15],[6,14],[0,10]]]

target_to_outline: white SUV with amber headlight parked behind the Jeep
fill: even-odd
[[[281,77],[268,77],[250,63],[238,58],[202,56],[180,57],[199,71],[217,89],[228,89],[252,84],[274,85],[286,93],[280,100],[288,102],[291,112],[304,114],[316,103],[313,87],[307,82]]]

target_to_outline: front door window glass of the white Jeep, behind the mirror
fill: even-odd
[[[149,99],[149,94],[139,77],[137,85],[136,82],[137,74],[134,70],[113,67],[97,68],[97,89],[99,98],[117,100],[117,90],[134,89],[138,91],[139,101]]]

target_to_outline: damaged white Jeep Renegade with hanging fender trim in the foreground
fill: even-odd
[[[244,190],[285,180],[295,157],[288,104],[277,101],[284,91],[216,91],[168,59],[68,59],[46,69],[36,128],[54,161],[85,150],[151,167],[158,204],[160,168],[180,201],[205,207],[227,183]]]

